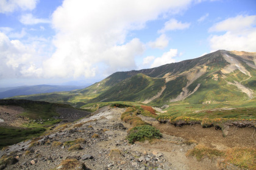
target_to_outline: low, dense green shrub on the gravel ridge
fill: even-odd
[[[158,129],[155,129],[153,126],[143,125],[130,129],[129,134],[127,135],[127,140],[129,140],[129,143],[134,143],[135,141],[143,141],[161,137],[162,134]]]

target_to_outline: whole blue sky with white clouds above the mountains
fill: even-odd
[[[255,0],[0,0],[0,87],[256,52]]]

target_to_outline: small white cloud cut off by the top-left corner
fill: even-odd
[[[0,0],[0,13],[11,13],[15,10],[33,10],[38,0]]]

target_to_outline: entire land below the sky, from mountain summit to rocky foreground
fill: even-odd
[[[0,167],[255,169],[255,62],[256,53],[218,50],[84,89],[0,100],[1,140],[9,139]]]

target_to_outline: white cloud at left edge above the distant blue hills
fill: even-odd
[[[0,32],[0,78],[39,77],[41,69],[35,67],[34,63],[38,60],[35,56],[37,52],[33,47],[26,46],[19,40],[10,40]]]

